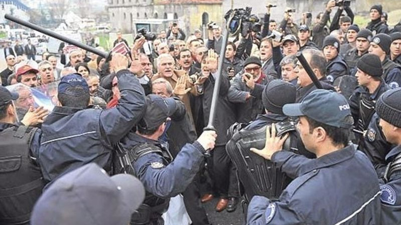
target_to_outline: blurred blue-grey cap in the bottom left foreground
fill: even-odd
[[[109,177],[96,163],[89,163],[63,175],[43,193],[31,224],[127,225],[144,197],[144,186],[136,177]]]

